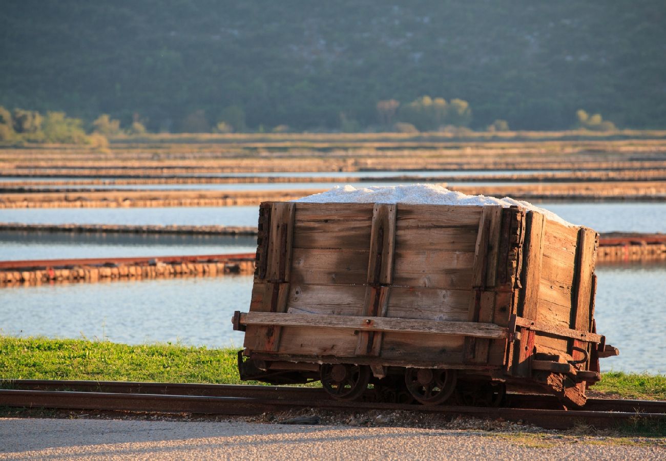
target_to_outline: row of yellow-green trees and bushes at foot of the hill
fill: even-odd
[[[442,97],[422,96],[408,104],[401,105],[395,99],[384,99],[376,104],[377,122],[369,127],[360,127],[354,120],[340,113],[340,127],[329,132],[346,133],[420,133],[449,132],[464,134],[472,131],[472,108],[463,99],[447,102]],[[604,120],[601,114],[590,115],[579,109],[575,113],[575,123],[571,129],[590,131],[614,131],[615,124]],[[272,129],[256,127],[250,129],[244,113],[238,106],[223,109],[220,116],[210,123],[204,111],[188,114],[180,125],[180,133],[290,133],[288,125],[276,125]],[[485,128],[488,132],[509,131],[509,124],[498,119]],[[139,115],[133,121],[121,125],[119,119],[109,114],[99,115],[86,123],[82,119],[68,117],[64,112],[48,111],[45,114],[27,109],[9,111],[0,106],[0,145],[20,145],[23,143],[88,144],[107,147],[110,137],[143,135],[148,133]]]

